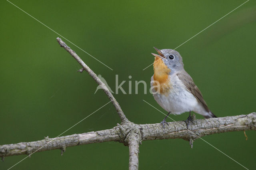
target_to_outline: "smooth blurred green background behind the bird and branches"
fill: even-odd
[[[135,95],[135,81],[147,82],[154,61],[153,46],[174,49],[243,2],[216,1],[32,1],[12,0],[60,35],[112,69],[105,67],[62,38],[114,90],[115,75],[132,75],[132,93],[114,95],[126,117],[138,124],[159,123],[164,111],[153,96]],[[218,117],[256,111],[256,2],[250,0],[192,40],[176,49],[186,71]],[[12,4],[0,2],[0,144],[53,138],[109,100],[80,65],[56,42],[59,37]],[[165,113],[165,111],[164,111]],[[185,120],[188,113],[171,116]],[[202,119],[201,115],[196,115]],[[170,119],[168,121],[171,121]],[[63,135],[112,128],[120,123],[106,105]],[[228,132],[204,140],[249,169],[255,168],[256,132]],[[118,142],[88,144],[35,153],[12,169],[128,169],[128,147]],[[10,168],[26,155],[6,157]],[[182,139],[145,141],[140,145],[140,169],[243,169],[198,139],[193,149]]]

